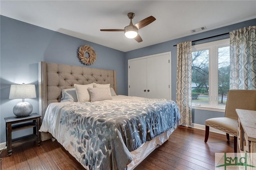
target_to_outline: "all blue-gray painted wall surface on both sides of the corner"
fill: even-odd
[[[20,22],[5,16],[0,16],[0,142],[5,142],[4,117],[14,116],[12,108],[20,99],[10,100],[9,91],[11,84],[30,83],[38,87],[38,62],[46,61],[69,65],[82,64],[76,57],[76,50],[80,45],[94,47],[98,58],[91,66],[102,69],[114,69],[117,72],[118,94],[128,94],[128,59],[153,55],[167,51],[172,52],[172,99],[176,100],[176,45],[177,43],[198,40],[218,34],[223,34],[239,28],[255,25],[256,19],[226,26],[216,30],[179,38],[176,40],[159,43],[128,51],[126,53],[88,42],[65,34],[47,30],[38,26]],[[220,40],[228,36],[207,40],[204,42]],[[203,43],[203,42],[198,42]],[[38,96],[38,91],[37,91]],[[38,98],[26,99],[32,103],[33,112],[38,112]],[[193,123],[204,125],[210,117],[221,117],[224,113],[194,110],[192,111]],[[13,137],[31,134],[31,130],[13,132]],[[22,134],[22,135],[20,135]]]

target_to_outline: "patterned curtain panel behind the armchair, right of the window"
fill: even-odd
[[[255,28],[230,32],[230,89],[256,90]]]

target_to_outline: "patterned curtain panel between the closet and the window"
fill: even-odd
[[[192,42],[177,44],[177,93],[181,125],[192,125]]]

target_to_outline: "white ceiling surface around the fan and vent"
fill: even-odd
[[[1,0],[0,5],[3,16],[124,52],[197,34],[190,30],[203,26],[212,30],[256,18],[256,0]],[[100,32],[124,29],[129,12],[135,14],[133,24],[148,16],[156,18],[139,30],[143,42],[128,39],[123,32]]]

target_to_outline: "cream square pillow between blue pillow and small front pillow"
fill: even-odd
[[[80,103],[91,101],[90,99],[90,92],[88,91],[88,87],[93,88],[93,84],[88,85],[78,85],[74,84],[74,87],[76,89],[76,95],[77,95],[77,101]]]

